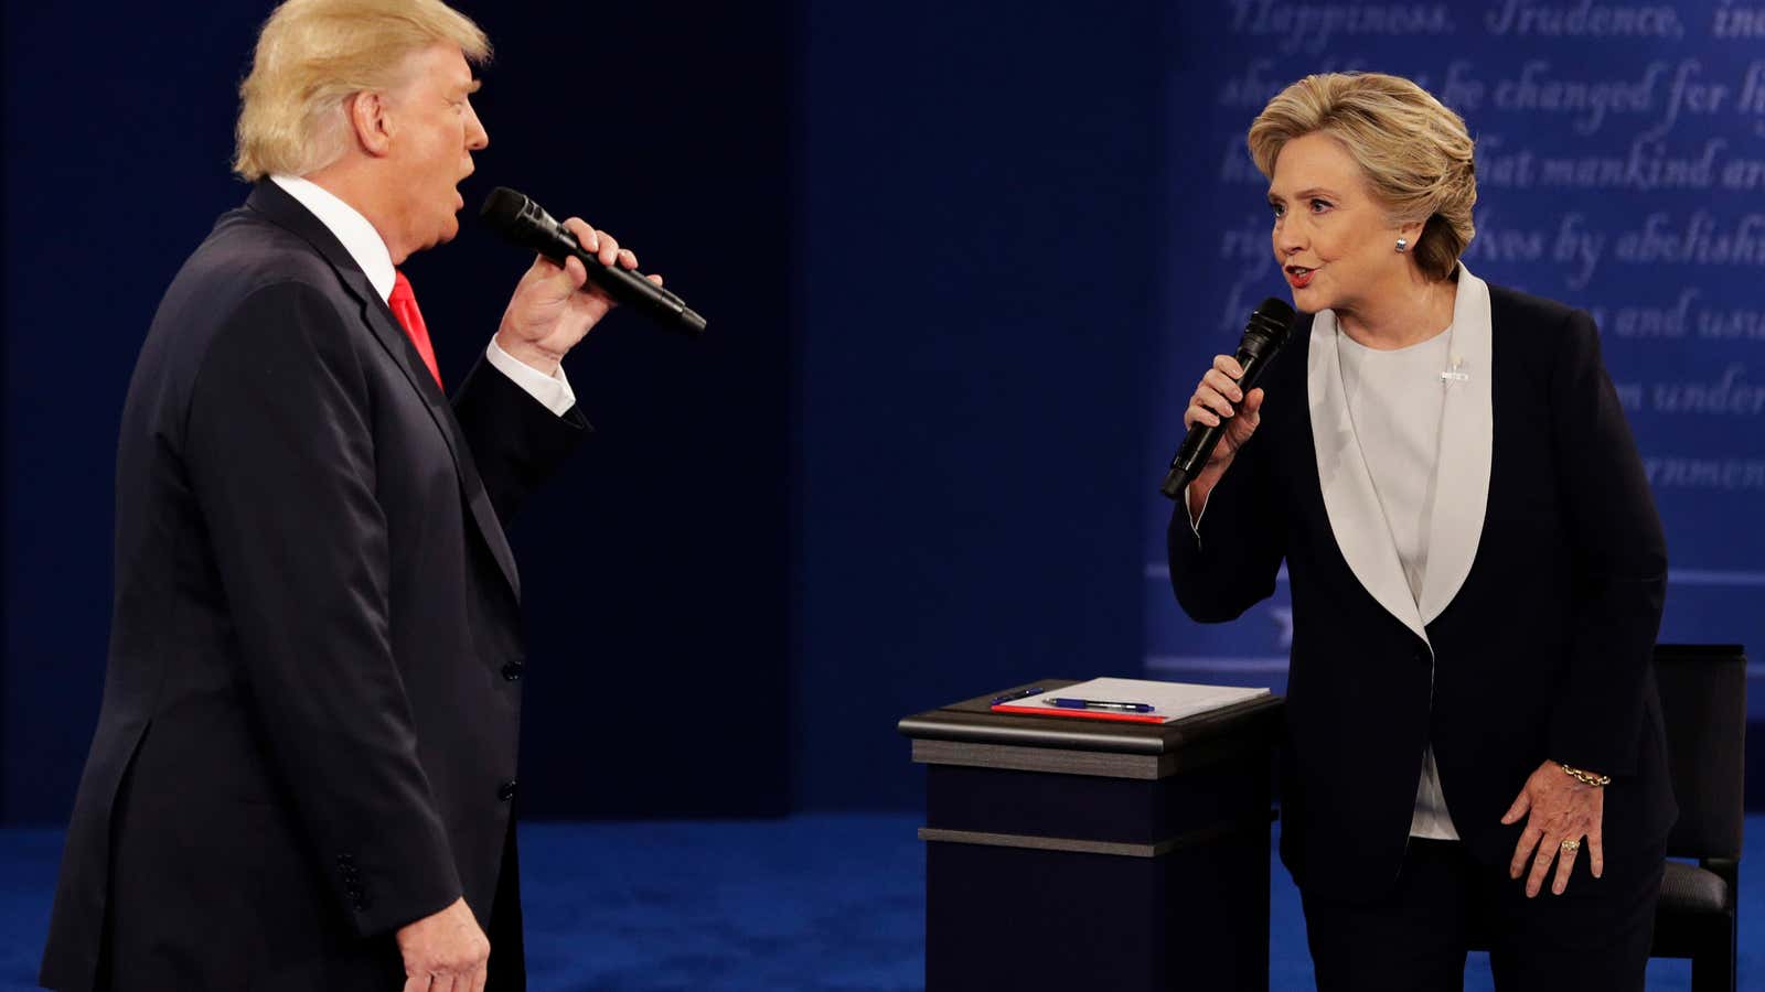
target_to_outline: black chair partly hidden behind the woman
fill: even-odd
[[[1657,644],[1679,823],[1668,837],[1652,957],[1691,958],[1693,992],[1735,990],[1735,904],[1747,734],[1747,657],[1739,644]]]

